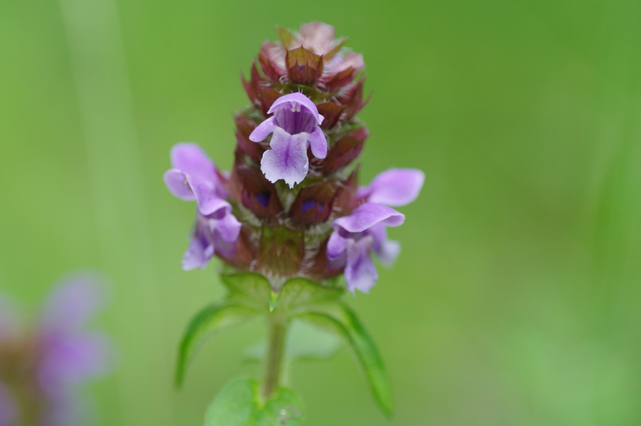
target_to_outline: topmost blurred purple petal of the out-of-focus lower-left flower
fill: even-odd
[[[75,333],[105,304],[98,276],[76,274],[62,281],[43,308],[43,333]]]

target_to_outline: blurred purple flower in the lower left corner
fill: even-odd
[[[33,330],[0,334],[0,426],[78,422],[73,389],[110,369],[107,338],[85,330],[103,301],[95,277],[77,275],[54,289]],[[0,315],[0,330],[15,320]]]

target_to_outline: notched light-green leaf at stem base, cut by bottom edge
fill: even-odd
[[[237,379],[209,405],[204,426],[298,426],[303,420],[302,407],[293,390],[278,388],[261,402],[256,380]]]

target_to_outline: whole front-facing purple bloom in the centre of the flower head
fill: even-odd
[[[261,142],[273,133],[269,142],[271,150],[266,150],[261,160],[261,171],[270,182],[283,179],[293,188],[307,176],[308,147],[316,158],[327,156],[327,140],[320,130],[323,115],[302,93],[281,96],[267,113],[273,115],[254,129],[249,140]]]

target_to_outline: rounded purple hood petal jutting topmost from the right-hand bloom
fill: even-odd
[[[368,187],[359,189],[359,196],[368,202],[388,206],[404,206],[414,201],[423,186],[425,174],[417,169],[390,169],[380,173]]]

